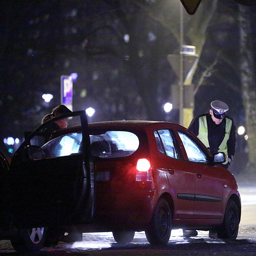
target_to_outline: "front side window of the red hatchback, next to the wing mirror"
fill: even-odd
[[[207,157],[195,141],[183,132],[178,132],[183,146],[185,147],[189,161],[196,163],[207,163]]]

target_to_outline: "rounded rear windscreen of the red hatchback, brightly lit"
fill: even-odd
[[[93,156],[100,158],[126,157],[139,147],[136,134],[127,131],[107,131],[99,135],[90,135]]]

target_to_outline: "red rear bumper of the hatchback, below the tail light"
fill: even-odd
[[[145,230],[157,199],[158,194],[155,190],[137,190],[112,195],[108,204],[105,203],[105,207],[96,201],[94,222],[105,230]]]

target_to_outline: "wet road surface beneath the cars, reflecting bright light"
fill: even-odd
[[[244,187],[240,192],[242,219],[238,239],[235,241],[208,238],[208,232],[203,231],[199,231],[197,237],[183,238],[182,230],[172,230],[168,246],[150,246],[144,232],[136,233],[132,243],[119,246],[115,243],[112,233],[84,233],[83,242],[59,243],[57,247],[42,249],[40,255],[256,256],[256,187]],[[0,254],[19,255],[7,240],[0,241]]]

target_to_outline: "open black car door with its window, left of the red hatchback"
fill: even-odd
[[[81,125],[81,132],[49,133],[53,123],[64,118]],[[94,165],[90,155],[85,111],[55,117],[32,132],[10,165],[14,225],[50,227],[92,221]]]

